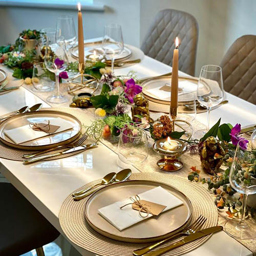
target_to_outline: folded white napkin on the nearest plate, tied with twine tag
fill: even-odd
[[[145,191],[138,196],[141,200],[167,206],[163,212],[183,204],[180,199],[170,194],[161,186]],[[103,218],[109,221],[120,231],[153,216],[152,214],[148,214],[146,218],[142,218],[139,215],[139,211],[134,210],[131,204],[120,209],[121,206],[129,203],[132,203],[132,201],[130,198],[127,198],[123,201],[102,207],[98,211]]]

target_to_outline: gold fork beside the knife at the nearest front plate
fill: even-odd
[[[140,255],[147,253],[148,251],[153,250],[157,246],[159,246],[167,241],[170,241],[170,240],[180,237],[182,234],[184,234],[185,236],[188,236],[189,234],[196,233],[199,230],[199,228],[203,226],[203,224],[206,222],[206,220],[207,219],[204,216],[200,215],[196,221],[194,221],[189,227],[183,229],[181,232],[174,234],[173,236],[170,236],[162,241],[156,242],[155,244],[146,246],[142,249],[135,250],[133,252],[133,254],[136,256],[140,256]]]

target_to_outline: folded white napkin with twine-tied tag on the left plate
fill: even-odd
[[[52,118],[47,119],[44,121],[37,121],[38,123],[48,123],[48,120],[50,120],[50,124],[58,125],[60,126],[58,130],[55,133],[60,133],[63,131],[67,131],[73,128],[72,124],[70,124],[68,121],[58,117],[58,118]],[[34,122],[34,121],[31,121]],[[42,131],[34,131],[29,124],[14,128],[11,130],[5,131],[5,134],[16,144],[24,143],[27,141],[39,139],[41,137],[49,136],[48,133],[42,132]]]

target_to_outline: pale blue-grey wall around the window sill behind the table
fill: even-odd
[[[94,3],[103,3],[107,8],[104,12],[83,11],[85,38],[102,36],[105,24],[119,23],[124,41],[139,47],[139,1],[94,0]],[[76,10],[0,6],[0,45],[13,43],[23,29],[54,28],[57,17],[65,14],[73,15],[77,29]]]

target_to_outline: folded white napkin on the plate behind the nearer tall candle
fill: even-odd
[[[149,89],[147,90],[147,92],[156,96],[159,99],[170,99],[170,84],[165,84],[165,86],[169,87],[169,91],[160,90],[163,87],[162,85],[156,88]],[[185,92],[196,92],[197,84],[187,80],[179,81],[179,89],[182,89]]]

